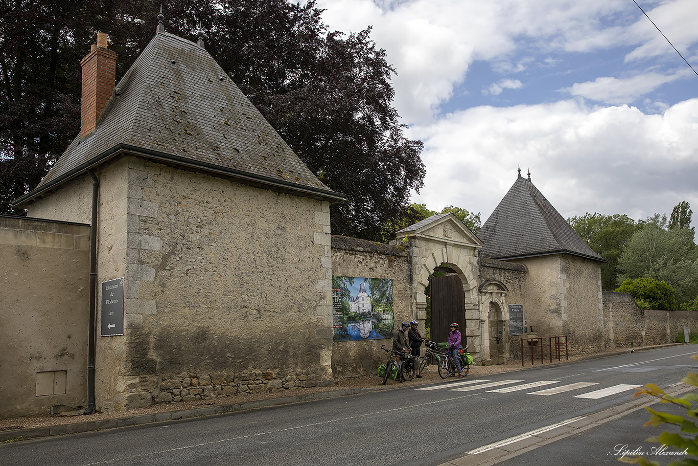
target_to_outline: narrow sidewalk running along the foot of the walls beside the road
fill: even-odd
[[[632,351],[647,351],[676,345],[677,344],[664,344],[653,347],[638,347],[632,349]],[[574,356],[570,357],[569,361],[563,360],[560,363],[554,361],[552,364],[546,362],[543,365],[550,366],[574,361],[618,356],[621,354],[628,354],[630,351],[630,349],[623,349],[599,354]],[[511,361],[502,365],[470,366],[470,374],[468,374],[468,377],[482,377],[515,370],[527,370],[533,367],[541,367],[540,361],[536,361],[535,365],[531,365],[530,361],[528,361],[528,364],[524,362],[523,367],[521,367],[521,361]],[[436,367],[431,366],[431,370],[424,374],[423,379],[415,378],[407,384],[388,381],[386,385],[383,385],[382,379],[379,377],[368,376],[340,381],[336,383],[334,387],[303,388],[292,392],[282,391],[258,395],[234,395],[229,398],[198,400],[195,402],[162,403],[141,409],[133,409],[128,412],[98,413],[87,416],[45,414],[25,416],[22,418],[0,419],[0,442],[17,442],[23,439],[36,437],[75,434],[79,432],[90,432],[93,430],[119,428],[146,423],[172,422],[180,419],[246,411],[248,409],[274,407],[311,400],[357,395],[359,393],[369,393],[372,391],[390,390],[392,388],[402,388],[404,386],[432,384],[437,381],[447,384],[452,381],[452,379],[440,379],[435,369]]]

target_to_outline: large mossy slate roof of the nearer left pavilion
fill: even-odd
[[[203,47],[165,31],[121,78],[95,131],[78,135],[15,203],[125,154],[297,196],[344,199],[311,173]]]

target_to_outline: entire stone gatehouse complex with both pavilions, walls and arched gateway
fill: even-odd
[[[343,195],[300,161],[203,41],[160,24],[114,85],[97,71],[116,59],[100,36],[82,61],[80,135],[17,200],[33,218],[2,217],[0,416],[371,374],[392,344],[390,322],[423,328],[436,269],[458,277],[456,319],[479,364],[516,356],[513,304],[526,335],[568,335],[572,351],[634,344],[656,326],[641,330],[625,308],[604,307],[602,259],[530,178],[517,177],[477,235],[442,214],[389,245],[332,236],[329,205]],[[335,277],[385,285],[383,333],[336,340]],[[121,279],[120,303],[103,296],[101,285]],[[105,325],[109,303],[121,306],[119,332]]]

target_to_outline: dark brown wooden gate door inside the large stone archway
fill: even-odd
[[[429,279],[429,298],[431,300],[431,340],[445,342],[448,340],[453,323],[459,323],[461,344],[466,346],[466,310],[463,283],[458,275],[433,277]]]

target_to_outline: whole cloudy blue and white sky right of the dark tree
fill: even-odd
[[[698,0],[637,0],[698,70]],[[484,222],[517,166],[563,217],[644,219],[689,201],[698,226],[698,75],[632,0],[319,0],[371,37],[424,141],[413,201]]]

